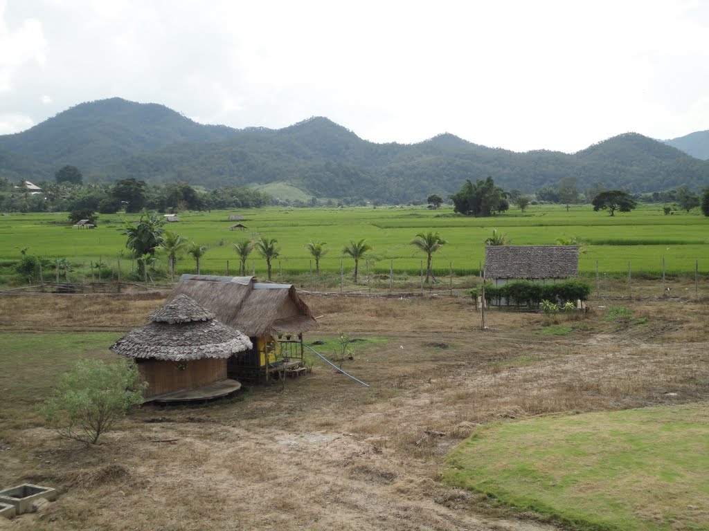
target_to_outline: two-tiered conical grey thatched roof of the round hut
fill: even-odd
[[[111,350],[128,358],[186,361],[228,358],[252,347],[247,336],[216,321],[184,295],[153,312],[150,321],[113,343]]]

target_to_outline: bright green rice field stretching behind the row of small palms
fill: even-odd
[[[693,275],[695,267],[701,275],[709,274],[709,218],[677,212],[663,215],[657,205],[644,205],[630,214],[610,217],[579,205],[566,212],[560,206],[534,206],[524,214],[516,209],[505,215],[471,218],[454,215],[451,207],[431,211],[425,207],[378,208],[264,208],[242,210],[242,222],[248,229],[231,231],[233,212],[184,212],[181,222],[169,229],[186,239],[210,247],[202,260],[202,272],[224,274],[227,261],[230,273],[238,268],[232,243],[240,239],[269,236],[281,246],[281,257],[274,263],[274,280],[291,280],[294,275],[308,274],[311,257],[305,244],[311,239],[326,241],[330,252],[320,267],[325,273],[340,271],[342,247],[350,239],[365,238],[372,245],[369,265],[362,272],[387,276],[393,270],[400,275],[418,278],[425,256],[415,252],[411,239],[419,232],[438,231],[449,244],[435,254],[435,273],[447,277],[477,275],[484,261],[484,240],[492,233],[508,234],[513,245],[554,245],[559,237],[576,237],[584,242],[585,253],[579,258],[582,274],[594,276],[596,265],[601,275],[625,275],[628,267],[636,276],[661,275],[664,258],[668,275]],[[26,214],[0,217],[0,266],[6,267],[21,257],[21,250],[48,257],[67,257],[74,264],[74,276],[90,278],[89,263],[101,258],[116,268],[121,259],[123,275],[132,263],[125,249],[125,236],[119,233],[124,219],[135,215],[104,215],[94,230],[74,229],[67,225],[65,214]],[[629,264],[630,263],[630,264]],[[265,275],[265,262],[252,254],[247,263],[259,277]],[[344,259],[345,273],[354,263]],[[167,270],[162,256],[159,268]],[[178,273],[194,273],[194,261],[183,256],[177,263]],[[282,273],[281,273],[282,272]],[[79,280],[79,279],[77,279]]]

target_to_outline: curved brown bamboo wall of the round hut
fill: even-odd
[[[159,394],[195,389],[226,378],[226,359],[191,360],[184,362],[150,360],[138,364],[140,374],[147,382],[145,398]],[[184,366],[184,370],[180,367]]]

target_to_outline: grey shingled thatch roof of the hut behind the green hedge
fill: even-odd
[[[485,278],[570,278],[579,276],[579,246],[487,246]]]

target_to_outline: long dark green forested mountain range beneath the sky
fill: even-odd
[[[65,164],[89,179],[134,177],[208,188],[282,181],[318,197],[383,202],[454,193],[465,179],[486,176],[525,193],[567,177],[637,193],[709,184],[709,161],[635,133],[576,154],[515,153],[448,133],[418,144],[375,144],[327,118],[281,130],[235,130],[119,98],[83,103],[25,132],[0,136],[0,176],[52,181]]]

